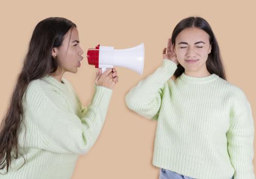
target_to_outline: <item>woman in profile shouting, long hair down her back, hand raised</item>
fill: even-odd
[[[97,140],[117,71],[98,69],[95,92],[83,107],[65,72],[77,73],[83,51],[76,25],[61,17],[40,21],[0,132],[0,178],[71,178],[79,154]]]

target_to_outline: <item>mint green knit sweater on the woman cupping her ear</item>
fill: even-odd
[[[254,179],[253,118],[245,93],[216,74],[173,80],[168,59],[126,95],[157,120],[153,165],[198,179]]]

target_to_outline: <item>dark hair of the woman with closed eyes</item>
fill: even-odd
[[[178,34],[183,31],[186,28],[190,27],[196,27],[204,30],[207,34],[210,36],[210,44],[211,44],[211,52],[208,54],[208,58],[206,60],[206,68],[209,71],[210,74],[216,74],[219,77],[226,80],[226,75],[224,71],[224,67],[221,60],[221,54],[218,42],[216,40],[216,37],[214,35],[214,32],[212,32],[210,25],[207,23],[207,21],[202,17],[187,17],[183,20],[181,20],[176,27],[174,28],[173,34],[172,34],[172,44],[175,45],[175,40]],[[178,78],[185,69],[181,64],[178,64],[178,68],[174,73],[174,78]]]

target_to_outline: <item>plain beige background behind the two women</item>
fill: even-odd
[[[1,3],[0,121],[6,113],[33,29],[40,20],[60,16],[78,26],[84,60],[77,74],[66,73],[64,77],[71,81],[83,105],[91,100],[96,72],[94,66],[88,65],[87,49],[99,43],[124,49],[144,42],[143,75],[116,68],[119,83],[114,89],[103,130],[91,151],[80,155],[73,179],[156,179],[159,169],[152,165],[156,122],[130,111],[124,102],[125,94],[162,63],[162,49],[176,24],[188,16],[201,16],[217,37],[227,80],[246,93],[256,120],[255,7],[255,1],[46,0]]]

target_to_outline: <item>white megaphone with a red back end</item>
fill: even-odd
[[[117,49],[114,47],[96,46],[87,51],[88,63],[100,68],[102,73],[106,68],[122,66],[133,70],[140,75],[144,66],[144,43],[129,49]]]

